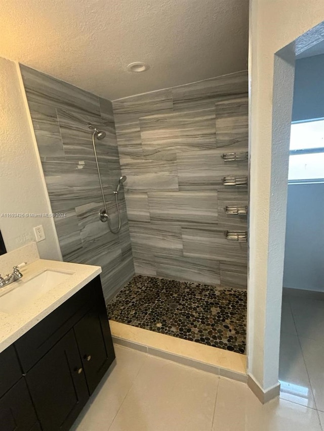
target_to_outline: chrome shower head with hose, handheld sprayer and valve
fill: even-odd
[[[103,186],[102,186],[102,181],[101,181],[101,175],[100,175],[100,169],[99,169],[98,158],[97,158],[96,145],[95,145],[95,137],[97,139],[99,139],[99,140],[104,139],[104,137],[106,136],[106,132],[104,132],[102,130],[98,130],[91,123],[88,123],[88,127],[89,127],[90,130],[93,130],[93,133],[92,133],[92,145],[93,145],[93,151],[95,153],[95,159],[96,159],[96,165],[97,165],[97,170],[98,170],[99,183],[100,183],[100,188],[101,188],[102,200],[103,200],[103,204],[104,204],[104,208],[101,208],[101,210],[99,211],[99,218],[100,218],[100,220],[102,222],[105,222],[105,221],[108,222],[108,227],[109,227],[109,229],[110,229],[110,231],[112,233],[118,233],[119,230],[120,230],[120,227],[121,227],[121,217],[120,217],[120,211],[119,211],[119,205],[118,205],[118,192],[120,190],[120,187],[127,180],[127,177],[126,177],[126,175],[121,176],[118,179],[118,183],[117,183],[116,189],[113,191],[113,194],[115,196],[117,213],[118,213],[118,228],[116,230],[114,230],[111,227],[111,220],[110,220],[109,214],[107,212],[107,205],[106,205],[105,195],[104,195],[104,191],[103,191]]]

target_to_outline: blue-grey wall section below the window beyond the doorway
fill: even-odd
[[[324,183],[288,186],[283,284],[324,292]]]

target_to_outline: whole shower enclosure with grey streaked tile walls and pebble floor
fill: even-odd
[[[113,101],[21,66],[63,260],[100,265],[108,316],[245,352],[246,71]],[[88,123],[112,227],[103,207]],[[135,275],[136,274],[136,275]],[[170,312],[171,310],[171,312]]]

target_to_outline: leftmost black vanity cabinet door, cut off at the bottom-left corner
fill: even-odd
[[[24,378],[0,398],[1,431],[29,431],[36,414]]]

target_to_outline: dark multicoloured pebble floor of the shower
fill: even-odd
[[[135,275],[107,305],[110,320],[245,353],[247,292]]]

